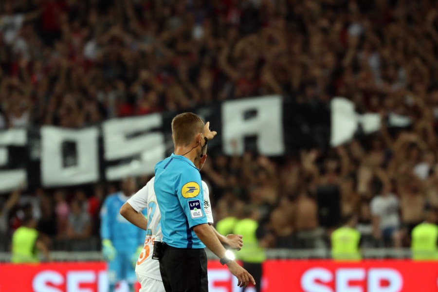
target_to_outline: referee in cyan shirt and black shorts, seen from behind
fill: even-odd
[[[201,175],[194,162],[216,135],[209,122],[185,112],[172,120],[174,153],[155,165],[154,191],[161,211],[163,247],[160,274],[166,292],[207,292],[208,247],[237,277],[239,287],[256,282],[225,250],[207,223]]]

